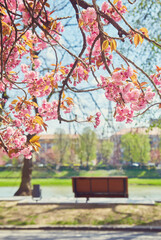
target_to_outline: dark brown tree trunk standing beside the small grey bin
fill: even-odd
[[[31,177],[32,177],[32,159],[24,158],[22,167],[21,184],[14,196],[30,196],[31,190]]]

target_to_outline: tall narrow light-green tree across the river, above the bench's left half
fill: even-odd
[[[83,162],[86,166],[89,166],[89,162],[96,158],[96,143],[97,136],[94,131],[90,128],[84,128],[83,133],[80,135],[80,147],[79,147],[79,158],[82,165]]]

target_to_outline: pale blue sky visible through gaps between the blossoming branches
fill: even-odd
[[[66,3],[67,1],[62,1],[62,0],[51,1],[51,6],[52,6],[52,4],[55,4],[57,10],[59,10],[59,7],[60,7],[59,4],[61,2]],[[88,1],[88,2],[91,2],[91,1]],[[97,1],[97,2],[102,2],[102,1]],[[127,3],[127,1],[124,1],[124,2]],[[71,6],[69,7],[69,5],[65,8],[62,8],[61,11],[56,11],[55,14],[58,17],[64,16],[64,14],[66,16],[74,16],[74,12],[71,11]],[[127,14],[130,15],[130,11]],[[135,17],[136,17],[136,19],[138,19],[137,16],[135,16]],[[131,22],[133,22],[132,18],[133,18],[132,16],[131,17],[128,16],[128,19],[130,19]],[[65,21],[63,21],[63,23],[65,23]],[[79,34],[79,29],[76,29],[73,25],[73,24],[75,24],[75,17],[72,18],[71,20],[69,18],[68,24],[69,25],[65,28],[65,32],[63,33],[64,38],[61,39],[61,43],[64,44],[66,47],[68,47],[73,53],[77,54],[80,51],[80,44],[82,41],[81,40],[82,37]],[[146,25],[147,25],[147,23],[146,23]],[[113,28],[110,28],[110,27],[108,27],[108,28],[109,28],[108,32],[111,35],[116,34],[116,32],[114,32]],[[128,44],[128,43],[126,43],[126,44]],[[145,47],[145,44],[146,43],[143,43],[142,46]],[[128,48],[128,45],[125,45],[125,46],[126,46],[125,48]],[[118,45],[118,47],[121,48],[120,45]],[[138,51],[140,51],[140,49],[141,49],[141,46],[138,47]],[[58,50],[58,57],[61,59],[61,56],[62,56],[61,51],[59,48],[57,48],[57,50]],[[135,57],[137,64],[141,65],[142,62],[147,58],[147,54],[149,52],[145,52],[145,54],[143,56],[138,57],[133,54],[134,50],[135,50],[135,47],[131,50],[131,52],[130,51],[127,52],[127,54],[129,53],[130,54],[129,57],[132,59]],[[51,63],[55,63],[55,56],[50,48],[48,48],[47,51],[42,54],[42,56],[43,56],[43,59],[45,57],[45,60],[47,61],[49,66]],[[46,66],[43,59],[42,59],[43,64],[44,64],[44,66]],[[70,63],[71,60],[72,60],[72,57],[65,54],[64,58],[62,59],[62,64],[66,65],[66,64]],[[158,62],[160,60],[161,59],[158,58]],[[117,65],[119,66],[120,59],[116,59],[114,63],[116,66]],[[98,75],[98,78],[99,78],[99,75]],[[95,80],[91,77],[89,86],[93,87],[95,85],[96,85]],[[88,85],[83,84],[83,85],[79,85],[78,88],[84,88],[86,86],[88,86]],[[70,94],[69,94],[69,96],[70,96]],[[13,99],[15,99],[14,93],[11,96],[11,100],[13,100]],[[156,100],[158,100],[158,99],[156,99]],[[135,118],[133,123],[131,123],[131,124],[126,124],[124,122],[118,123],[113,118],[115,104],[111,103],[112,112],[109,112],[110,104],[109,104],[109,101],[105,98],[103,90],[95,92],[92,95],[80,93],[80,94],[78,94],[78,98],[74,97],[74,102],[75,102],[74,113],[78,116],[79,119],[83,119],[83,117],[86,118],[87,116],[94,115],[96,112],[101,111],[101,113],[102,113],[102,116],[100,118],[101,124],[98,126],[98,128],[94,129],[92,123],[74,123],[74,124],[71,123],[71,124],[69,124],[69,123],[62,122],[60,124],[58,122],[58,120],[53,120],[53,121],[47,122],[47,124],[48,124],[47,133],[48,134],[54,134],[54,132],[58,128],[64,129],[66,131],[66,133],[81,133],[85,127],[90,127],[92,130],[96,131],[96,133],[100,136],[102,135],[103,132],[106,136],[109,136],[110,134],[113,134],[115,131],[119,131],[121,128],[131,128],[131,127],[136,127],[136,126],[148,126],[149,119],[151,117],[153,117],[153,118],[159,117],[159,111],[157,108],[155,108],[155,109],[147,112],[147,114],[145,114],[144,116]],[[95,104],[95,103],[97,103],[97,104]],[[82,110],[80,109],[80,105],[82,107]],[[83,114],[82,114],[82,112],[83,112]],[[112,125],[114,127],[110,128],[109,125]],[[44,134],[45,134],[45,132],[44,132]]]

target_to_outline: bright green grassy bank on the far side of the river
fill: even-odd
[[[61,171],[51,169],[33,170],[32,184],[41,186],[71,186],[72,176],[99,177],[99,176],[128,176],[128,183],[136,185],[161,186],[161,176],[157,170],[93,170],[93,171]],[[0,171],[0,186],[19,186],[21,170],[12,169]]]

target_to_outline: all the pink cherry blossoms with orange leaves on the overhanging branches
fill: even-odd
[[[114,1],[113,4],[119,13],[126,12],[121,0]],[[10,157],[23,154],[30,158],[32,150],[37,149],[39,143],[36,138],[28,139],[27,136],[35,137],[46,129],[46,121],[58,119],[58,108],[63,113],[72,111],[73,99],[64,93],[69,84],[76,86],[83,84],[83,81],[87,82],[91,69],[96,71],[95,66],[101,71],[105,70],[105,65],[113,67],[116,40],[101,32],[101,28],[110,23],[102,15],[98,18],[95,9],[88,7],[81,12],[79,19],[79,25],[85,32],[87,41],[82,61],[77,59],[75,63],[74,60],[67,66],[61,66],[57,62],[53,70],[41,75],[39,70],[42,63],[38,57],[39,52],[49,46],[55,48],[64,30],[61,21],[58,21],[57,17],[52,17],[55,12],[50,12],[48,7],[46,0],[1,0],[0,93],[5,93],[6,89],[18,89],[25,93],[23,97],[15,96],[8,106],[8,112],[3,109],[7,99],[0,99],[2,110],[0,134],[3,139],[0,141],[0,147],[7,147]],[[100,11],[118,22],[121,17],[115,8],[105,1]],[[141,32],[148,36],[145,28],[142,28]],[[129,31],[127,37],[131,40],[134,38],[134,44],[137,46],[142,43],[144,36]],[[138,73],[130,66],[114,69],[109,77],[102,72],[101,84],[98,87],[102,87],[106,98],[115,103],[116,121],[131,122],[135,112],[146,108],[153,100],[155,92],[150,86],[145,87],[145,83],[139,83]],[[150,78],[161,93],[161,68],[157,67],[157,73],[152,74]],[[61,93],[61,101],[51,98],[48,102],[46,98],[55,90]],[[100,116],[101,113],[97,112],[96,115],[87,117],[87,121],[92,122],[96,128],[100,124]]]

